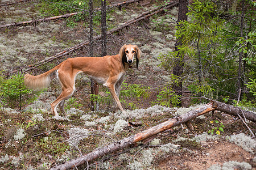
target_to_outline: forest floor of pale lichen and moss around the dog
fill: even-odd
[[[110,5],[117,2],[107,1]],[[40,18],[39,4],[40,1],[27,1],[0,7],[0,25]],[[108,14],[108,29],[155,5],[159,3],[142,1],[121,10],[112,8]],[[95,17],[100,17],[100,14]],[[187,106],[184,108],[157,105],[159,91],[171,80],[171,73],[158,66],[158,57],[174,50],[175,24],[172,19],[177,19],[177,7],[108,36],[108,55],[117,54],[123,44],[137,44],[142,50],[138,70],[135,67],[129,69],[122,88],[122,105],[127,114],[111,112],[111,97],[106,95],[102,86],[100,111],[91,112],[90,79],[84,75],[77,76],[76,92],[66,102],[68,117],[55,117],[51,113],[49,103],[60,94],[56,79],[34,103],[23,105],[21,109],[18,101],[13,101],[12,104],[17,105],[13,108],[1,103],[0,169],[49,169],[200,107],[192,105],[195,101],[189,98],[183,100],[183,105]],[[77,22],[70,27],[72,24],[67,19],[59,19],[1,28],[2,74],[12,75],[15,70],[27,70],[30,65],[88,40],[89,26]],[[100,33],[98,27],[95,26],[94,36]],[[94,41],[95,56],[100,56],[100,46],[100,41]],[[88,55],[89,46],[83,46],[29,73],[42,74],[69,57]],[[136,96],[141,92],[139,90],[145,90],[142,92],[145,97]],[[130,126],[128,122],[140,126]],[[89,163],[89,169],[256,169],[256,141],[250,138],[242,120],[214,112],[197,117],[191,123],[193,131],[185,125],[175,127],[158,134],[148,143],[138,143],[137,146],[105,155]],[[255,134],[255,123],[246,123]],[[221,127],[224,131],[216,134]],[[209,130],[213,134],[208,133]],[[79,168],[84,169],[86,165]]]

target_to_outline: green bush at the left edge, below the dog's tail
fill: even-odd
[[[37,99],[42,91],[29,90],[24,86],[23,73],[11,75],[9,79],[5,79],[0,75],[0,98],[3,105],[21,109],[23,105],[30,104]]]

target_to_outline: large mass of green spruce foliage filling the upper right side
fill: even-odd
[[[236,99],[238,69],[243,75],[243,83],[249,78],[256,79],[256,24],[251,18],[255,10],[249,10],[253,6],[246,7],[246,26],[241,37],[238,20],[221,18],[223,11],[217,5],[212,1],[197,0],[189,6],[187,15],[191,20],[180,22],[176,31],[176,38],[181,40],[182,45],[175,52],[159,56],[162,61],[160,67],[172,71],[175,65],[183,63],[184,71],[180,79],[193,94],[215,100]],[[237,15],[240,16],[240,11]],[[241,53],[243,62],[239,68],[238,57]]]

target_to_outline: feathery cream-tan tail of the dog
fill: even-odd
[[[43,88],[46,88],[49,86],[49,83],[51,82],[51,74],[59,68],[60,65],[57,65],[56,67],[47,71],[46,73],[36,76],[26,74],[24,75],[24,85],[27,88],[31,88],[32,90],[41,90]]]

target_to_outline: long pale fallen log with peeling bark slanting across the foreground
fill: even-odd
[[[183,124],[189,120],[192,120],[193,118],[196,118],[197,116],[213,111],[214,109],[215,108],[214,108],[213,102],[210,102],[208,104],[205,104],[201,108],[195,109],[193,111],[189,111],[185,114],[181,114],[178,117],[171,118],[170,120],[163,122],[162,124],[156,125],[150,129],[144,130],[141,133],[137,133],[135,135],[122,139],[121,141],[114,142],[108,146],[98,148],[93,152],[90,152],[89,154],[80,156],[77,159],[70,160],[69,162],[58,165],[57,167],[53,167],[51,169],[52,170],[53,169],[54,170],[55,169],[71,169],[71,168],[79,167],[80,165],[83,165],[88,162],[92,162],[92,160],[98,159],[101,156],[120,150],[121,148],[135,145],[139,141],[143,141],[144,139],[150,138],[153,135],[161,133],[174,126]]]

